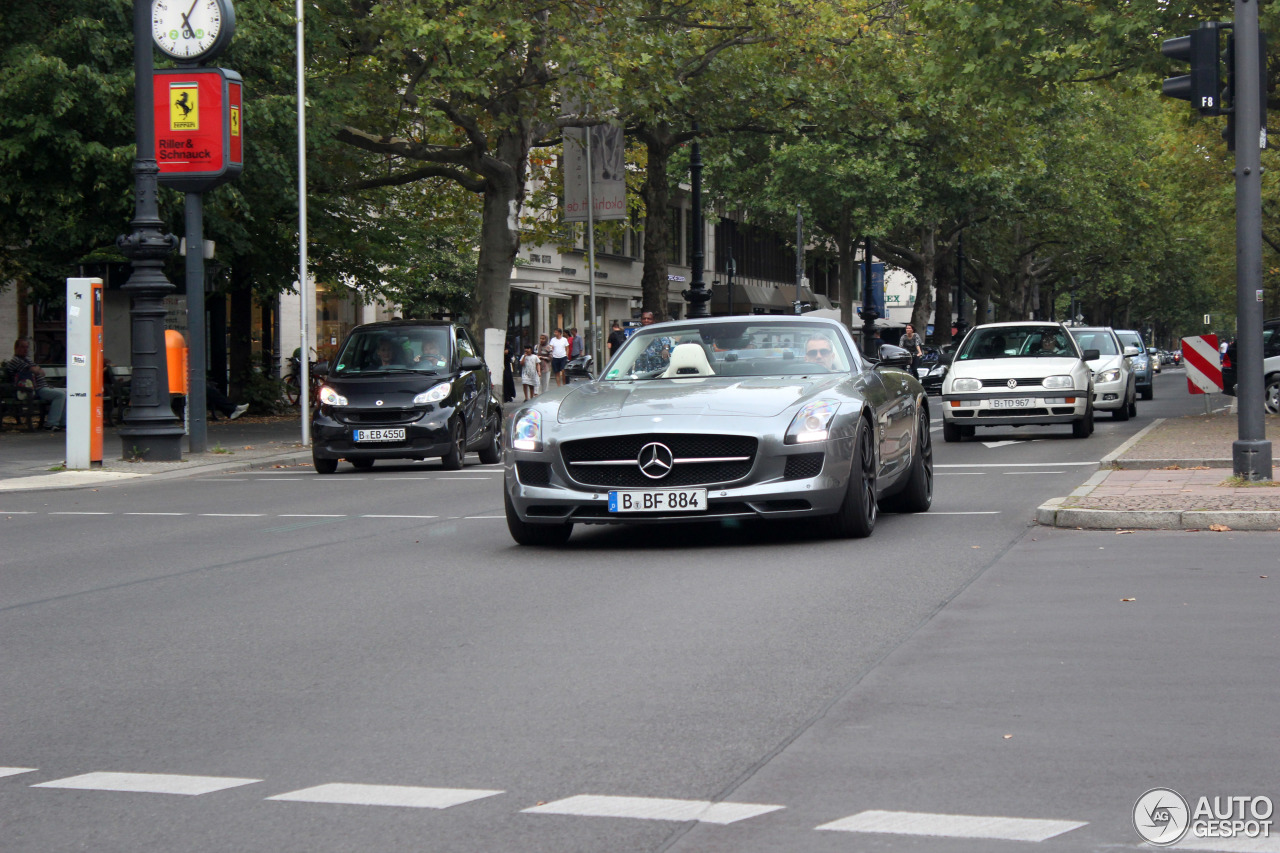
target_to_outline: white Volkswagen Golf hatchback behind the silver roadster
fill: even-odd
[[[1071,424],[1093,433],[1093,371],[1059,323],[989,323],[969,330],[942,383],[942,438],[957,442],[978,426]]]

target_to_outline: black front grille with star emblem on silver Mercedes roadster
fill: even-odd
[[[640,451],[659,443],[673,464],[666,476],[640,470]],[[759,441],[751,435],[654,433],[564,442],[561,459],[570,478],[599,488],[681,488],[740,480],[751,470]]]

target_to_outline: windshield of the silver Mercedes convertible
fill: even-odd
[[[829,325],[731,323],[641,327],[609,361],[605,380],[847,373],[854,359]]]

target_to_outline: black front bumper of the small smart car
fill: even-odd
[[[358,410],[366,415],[367,410]],[[453,407],[429,406],[425,410],[388,412],[384,423],[355,421],[357,410],[339,411],[321,406],[311,421],[311,455],[316,459],[431,459],[444,456],[452,444],[449,419]],[[393,415],[393,416],[392,416]],[[412,418],[412,419],[411,419]],[[411,419],[411,420],[410,420]],[[396,442],[356,442],[357,429],[404,429],[404,439]]]

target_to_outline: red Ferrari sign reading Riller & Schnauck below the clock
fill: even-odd
[[[160,183],[207,192],[244,165],[241,76],[227,68],[155,72],[156,163]]]

